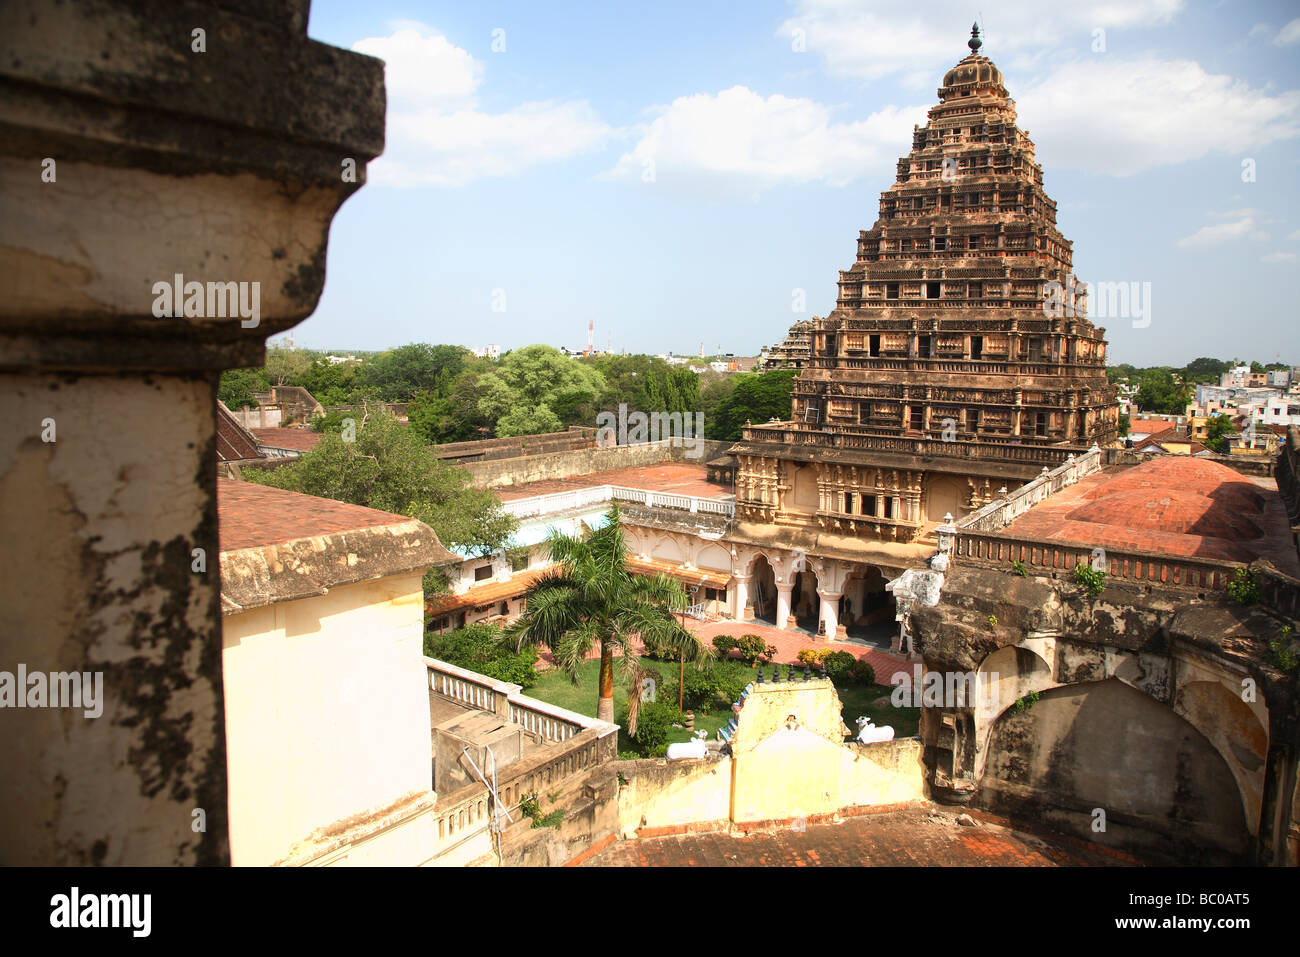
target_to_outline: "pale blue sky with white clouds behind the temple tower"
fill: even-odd
[[[1075,272],[1152,283],[1112,360],[1300,363],[1300,4],[1191,0],[316,0],[312,38],[389,64],[387,146],[296,343],[576,348],[594,320],[754,355],[833,308],[980,13]]]

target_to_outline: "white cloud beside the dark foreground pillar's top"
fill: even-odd
[[[598,147],[612,133],[585,100],[523,103],[502,113],[478,111],[484,65],[420,23],[400,23],[352,49],[387,68],[387,134],[370,164],[370,182],[463,186],[480,177],[515,176]]]

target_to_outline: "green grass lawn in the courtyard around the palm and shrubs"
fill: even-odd
[[[659,671],[664,675],[664,679],[671,676],[672,681],[676,683],[677,668],[673,663],[654,662],[649,659],[645,659],[644,663]],[[750,668],[749,671],[751,679],[757,677],[758,672],[754,668]],[[768,674],[771,674],[771,670],[768,670]],[[567,674],[555,668],[540,672],[537,676],[537,684],[524,693],[540,701],[546,701],[551,705],[558,705],[559,707],[567,707],[569,711],[577,711],[578,714],[594,718],[597,680],[599,676],[601,662],[592,659],[589,662],[584,662],[578,668],[578,683],[576,685]],[[627,692],[620,687],[618,680],[618,663],[615,663],[614,679],[614,722],[619,726],[619,757],[640,758],[642,755],[636,750],[636,746],[628,737],[625,729],[628,723],[628,701]],[[894,737],[911,737],[916,733],[916,726],[920,720],[920,710],[915,707],[893,707],[888,701],[889,692],[893,690],[892,688],[879,684],[866,687],[845,684],[842,687],[837,687],[836,690],[838,692],[840,701],[844,705],[844,723],[854,735],[858,733],[857,719],[863,714],[868,715],[876,724],[892,726],[894,728]],[[872,706],[872,702],[881,697],[885,698],[883,706]],[[715,732],[723,727],[729,718],[731,713],[720,709],[708,714],[696,711],[696,729],[708,732],[708,737],[712,739]],[[675,741],[688,741],[689,739],[690,733],[685,728],[672,728],[668,733],[670,744]]]

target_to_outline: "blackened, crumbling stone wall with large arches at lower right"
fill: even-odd
[[[911,616],[927,671],[978,671],[975,702],[923,710],[931,784],[1114,846],[1269,859],[1295,819],[1269,785],[1297,739],[1294,677],[1269,651],[1284,623],[1222,596],[1110,581],[1089,598],[958,566]]]

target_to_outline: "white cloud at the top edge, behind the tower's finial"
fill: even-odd
[[[800,0],[794,16],[777,27],[793,42],[802,31],[809,53],[832,73],[863,79],[901,75],[930,86],[968,52],[971,4],[931,0],[880,10],[876,0]],[[875,9],[872,9],[875,8]],[[1008,0],[984,22],[985,53],[1002,66],[1039,61],[1053,48],[1091,49],[1097,29],[1169,23],[1183,0],[1108,0],[1092,5]]]

